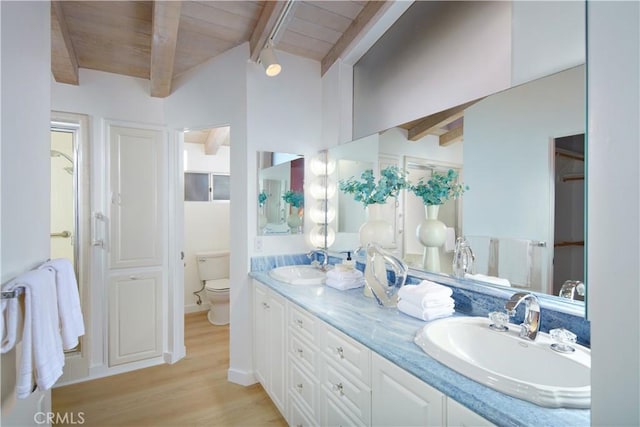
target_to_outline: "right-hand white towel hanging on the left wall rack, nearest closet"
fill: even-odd
[[[78,345],[78,337],[84,335],[80,294],[73,265],[68,259],[59,258],[45,262],[40,268],[53,269],[55,272],[62,348],[71,350]]]

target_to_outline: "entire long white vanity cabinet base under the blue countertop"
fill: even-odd
[[[254,370],[290,426],[492,425],[257,281]]]

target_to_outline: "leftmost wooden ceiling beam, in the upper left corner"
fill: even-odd
[[[58,83],[80,84],[78,59],[73,49],[62,4],[51,2],[51,71]]]

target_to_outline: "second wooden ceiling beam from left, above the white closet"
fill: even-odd
[[[164,98],[171,93],[173,63],[176,56],[179,1],[153,2],[153,38],[151,41],[151,96]]]

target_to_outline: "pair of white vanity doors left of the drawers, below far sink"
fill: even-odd
[[[253,296],[255,375],[280,412],[286,414],[286,300],[255,281]]]

